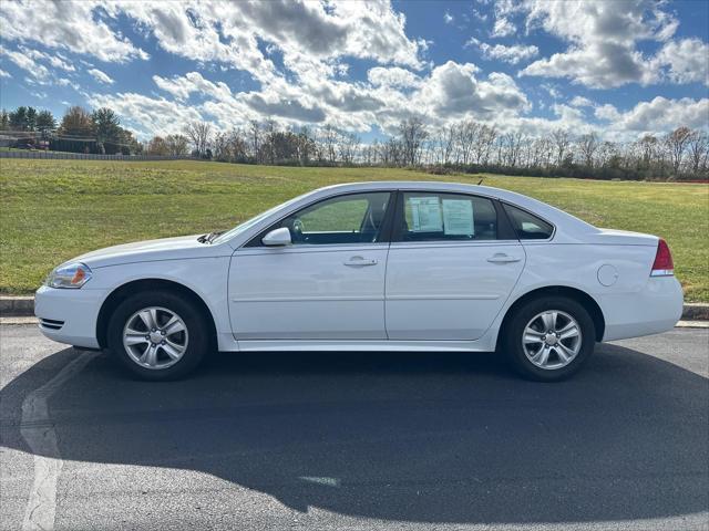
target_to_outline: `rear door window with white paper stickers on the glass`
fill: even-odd
[[[405,191],[402,222],[402,241],[497,238],[497,214],[484,197]]]

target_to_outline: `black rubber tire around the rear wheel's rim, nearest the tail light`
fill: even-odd
[[[542,368],[525,354],[522,337],[527,323],[546,311],[557,310],[571,315],[580,327],[580,348],[572,361],[558,368]],[[574,375],[588,360],[596,343],[596,330],[588,311],[573,299],[565,296],[541,296],[527,301],[514,311],[501,332],[500,344],[512,368],[521,376],[536,382],[559,382]]]

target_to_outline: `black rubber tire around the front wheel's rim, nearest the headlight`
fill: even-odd
[[[165,368],[146,368],[138,365],[123,345],[123,330],[129,319],[151,306],[164,308],[177,314],[188,332],[184,354]],[[109,350],[124,367],[135,376],[153,382],[178,379],[195,371],[212,345],[210,327],[202,309],[189,299],[171,291],[141,292],[124,300],[111,315],[106,340]]]

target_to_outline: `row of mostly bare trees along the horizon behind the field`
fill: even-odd
[[[49,111],[2,111],[0,128],[38,132],[50,148],[80,153],[148,154],[227,163],[298,166],[424,167],[435,173],[500,173],[598,179],[707,179],[706,131],[678,126],[666,135],[610,142],[596,133],[557,128],[535,136],[463,119],[433,128],[420,117],[401,121],[394,134],[363,143],[326,124],[282,128],[273,119],[249,121],[228,131],[208,122],[185,124],[181,133],[140,143],[107,107],[70,107],[56,124]],[[1,132],[0,132],[1,134]]]

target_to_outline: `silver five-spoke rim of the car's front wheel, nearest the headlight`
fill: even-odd
[[[172,310],[148,306],[135,312],[125,322],[123,347],[141,367],[167,368],[187,351],[187,325]]]

